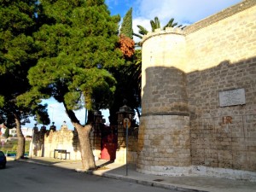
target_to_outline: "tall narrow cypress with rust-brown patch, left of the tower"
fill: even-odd
[[[129,107],[136,110],[139,115],[139,108],[141,107],[140,96],[140,78],[137,74],[141,73],[140,66],[137,65],[137,54],[135,50],[135,42],[132,39],[132,9],[129,9],[125,14],[125,18],[121,24],[119,32],[119,46],[125,58],[125,66],[113,71],[115,79],[118,84],[114,94],[114,103],[109,108],[109,121],[111,125],[116,125],[116,112],[124,105],[124,99],[127,99]]]

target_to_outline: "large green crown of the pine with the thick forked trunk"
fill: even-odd
[[[116,83],[108,71],[124,64],[117,49],[119,16],[110,16],[102,0],[40,3],[49,23],[33,36],[39,59],[28,73],[32,91],[53,96],[67,110],[84,107],[83,101],[91,110],[108,108]]]

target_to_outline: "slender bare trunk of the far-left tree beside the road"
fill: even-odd
[[[24,154],[25,154],[25,137],[23,136],[23,133],[21,131],[20,120],[15,119],[15,123],[16,123],[16,131],[17,131],[17,138],[18,138],[16,159],[21,159],[21,158],[24,158]]]

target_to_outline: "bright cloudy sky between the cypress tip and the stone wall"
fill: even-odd
[[[137,31],[137,23],[144,25],[155,16],[160,19],[161,26],[166,25],[168,20],[174,18],[179,24],[187,25],[202,20],[210,15],[230,7],[241,0],[137,0],[137,7],[133,9],[133,30]]]

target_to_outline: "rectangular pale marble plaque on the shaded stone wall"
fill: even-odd
[[[246,104],[244,89],[221,91],[218,96],[220,107]]]

